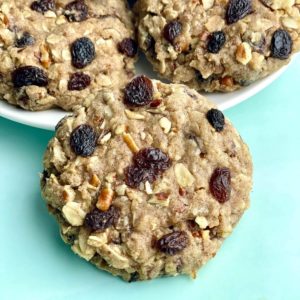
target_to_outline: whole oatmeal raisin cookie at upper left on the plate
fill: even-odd
[[[0,97],[27,110],[89,105],[134,74],[123,0],[0,1]]]

